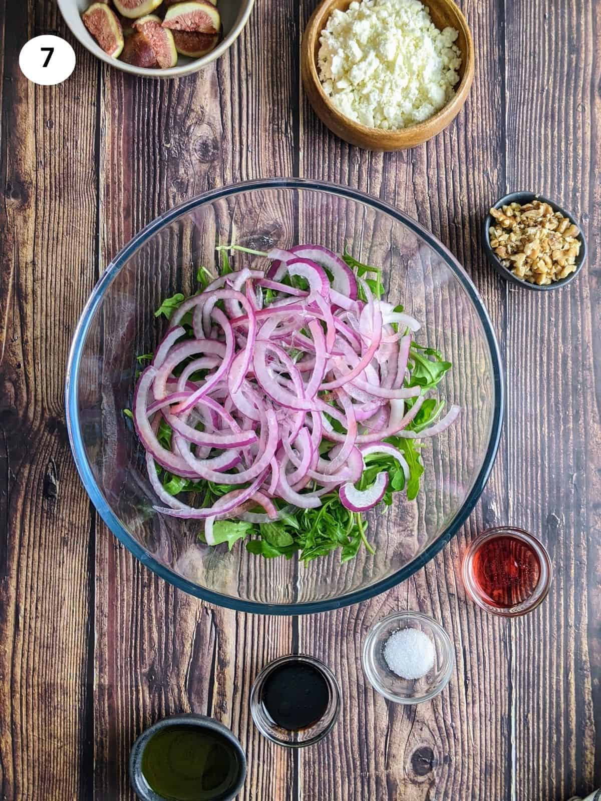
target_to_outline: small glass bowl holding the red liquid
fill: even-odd
[[[522,540],[526,542],[527,545],[530,545],[530,548],[532,548],[534,553],[536,553],[538,556],[538,562],[540,564],[538,583],[534,587],[534,591],[530,597],[526,598],[525,601],[522,601],[522,603],[519,603],[516,606],[508,606],[505,608],[502,606],[494,606],[486,601],[486,598],[484,598],[482,592],[478,590],[478,585],[474,581],[473,570],[474,556],[476,553],[478,553],[478,549],[482,547],[483,543],[487,540],[494,539],[494,537],[498,537],[499,535],[503,534],[506,534],[510,537],[516,537],[518,540]],[[490,614],[497,614],[501,618],[518,618],[520,615],[527,614],[528,612],[536,609],[536,607],[543,603],[545,598],[547,598],[547,594],[549,593],[549,589],[551,587],[552,578],[553,566],[551,565],[551,557],[549,556],[549,553],[547,552],[547,549],[543,543],[537,540],[536,537],[533,537],[533,535],[529,534],[527,531],[524,531],[523,529],[515,529],[510,525],[502,525],[495,529],[486,529],[486,531],[482,531],[482,533],[478,534],[478,537],[474,537],[474,539],[470,542],[462,561],[462,579],[467,594],[470,596],[472,601],[478,604],[478,606],[480,606],[483,610],[490,612]]]

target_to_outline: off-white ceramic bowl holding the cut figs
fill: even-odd
[[[83,12],[91,6],[92,2],[94,0],[58,0],[58,8],[63,14],[67,26],[71,29],[71,33],[97,58],[101,58],[111,66],[116,66],[118,70],[130,72],[133,75],[141,75],[143,78],[181,78],[197,70],[202,70],[204,66],[219,58],[220,55],[223,55],[228,50],[228,47],[236,42],[248,22],[252,6],[255,5],[255,0],[218,0],[217,8],[221,15],[223,35],[215,50],[212,50],[202,58],[188,58],[188,56],[180,55],[177,59],[177,65],[171,66],[167,70],[148,70],[142,66],[126,64],[119,58],[111,58],[96,44],[95,39],[87,32],[81,18]]]

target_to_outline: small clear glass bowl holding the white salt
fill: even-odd
[[[391,634],[402,629],[423,631],[434,644],[434,665],[422,678],[401,678],[389,669],[384,646]],[[394,612],[371,627],[363,646],[363,670],[374,690],[395,703],[430,701],[449,683],[455,652],[449,635],[433,618],[421,612]]]

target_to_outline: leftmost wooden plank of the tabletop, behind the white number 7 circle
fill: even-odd
[[[34,87],[18,52],[42,31],[64,33],[58,11],[2,3],[0,19],[0,797],[80,799],[91,769],[90,504],[63,392],[94,280],[98,70],[84,59],[62,86]]]

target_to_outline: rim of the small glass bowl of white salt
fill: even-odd
[[[430,629],[436,632],[439,642],[442,643],[442,647],[446,651],[446,658],[449,662],[449,664],[446,666],[444,674],[442,675],[442,679],[440,682],[438,682],[437,686],[435,686],[433,690],[429,690],[426,694],[419,696],[419,698],[406,698],[402,695],[394,695],[393,693],[389,692],[389,690],[386,690],[385,686],[381,685],[381,683],[377,681],[377,675],[375,674],[375,671],[372,670],[373,649],[376,643],[377,634],[380,634],[381,630],[386,626],[389,626],[390,623],[407,620],[408,618],[414,618],[420,622],[424,622],[430,626]],[[371,626],[367,633],[367,637],[365,638],[363,648],[361,649],[361,665],[363,666],[365,678],[367,678],[369,684],[373,686],[373,689],[376,690],[378,694],[382,695],[384,698],[388,698],[388,700],[392,701],[393,703],[405,704],[405,706],[414,706],[418,703],[431,701],[432,698],[436,698],[436,696],[442,693],[442,690],[445,689],[447,684],[450,682],[450,677],[453,675],[453,671],[455,669],[455,650],[449,634],[447,634],[446,630],[441,626],[438,620],[435,620],[429,614],[424,612],[413,612],[410,609],[401,609],[397,610],[397,612],[387,614],[385,618],[381,618],[381,620],[378,620],[373,624],[373,626]]]

